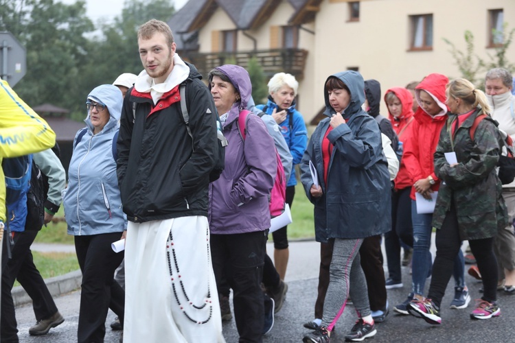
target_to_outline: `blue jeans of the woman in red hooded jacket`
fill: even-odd
[[[424,294],[426,279],[431,275],[432,259],[431,252],[431,231],[433,226],[432,213],[417,213],[417,204],[411,200],[411,220],[413,222],[413,276],[412,292]],[[461,249],[455,258],[453,275],[456,287],[465,287],[465,261]]]

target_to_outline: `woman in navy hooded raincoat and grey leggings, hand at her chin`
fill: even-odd
[[[329,342],[349,293],[359,318],[345,338],[363,340],[376,334],[358,251],[365,237],[391,228],[390,178],[379,126],[361,108],[363,89],[363,77],[356,71],[328,78],[324,114],[329,118],[314,130],[301,162],[301,181],[314,204],[315,237],[332,245],[321,324],[304,342]],[[317,169],[317,186],[310,162]]]

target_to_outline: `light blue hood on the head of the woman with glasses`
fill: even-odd
[[[122,104],[124,102],[122,91],[120,91],[117,86],[113,86],[112,84],[102,84],[95,87],[93,88],[93,91],[89,93],[87,99],[106,105],[107,110],[109,111],[109,121],[106,123],[103,130],[117,126],[119,118],[122,115]],[[86,119],[84,119],[84,122],[91,130],[93,130],[93,124],[91,124],[89,112]]]

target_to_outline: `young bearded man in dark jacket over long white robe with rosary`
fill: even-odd
[[[141,25],[138,46],[145,70],[124,99],[117,141],[128,219],[124,342],[223,342],[207,224],[216,108],[166,23]]]

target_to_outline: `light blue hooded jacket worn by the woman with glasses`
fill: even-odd
[[[110,117],[102,131],[93,134],[88,113],[84,120],[87,131],[77,141],[79,132],[84,129],[79,130],[73,140],[68,187],[62,192],[68,233],[121,233],[127,222],[118,188],[113,139],[119,128],[122,92],[116,86],[103,84],[93,89],[87,98],[106,105]]]

